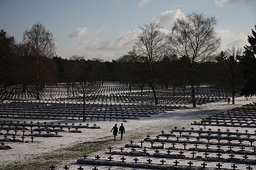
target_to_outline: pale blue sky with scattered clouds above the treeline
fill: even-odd
[[[56,55],[112,61],[127,54],[139,28],[160,22],[170,32],[177,18],[203,12],[218,20],[220,50],[247,44],[256,24],[256,0],[0,0],[0,29],[16,42],[32,24],[53,34]]]

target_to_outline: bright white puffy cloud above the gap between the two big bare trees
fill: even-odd
[[[161,23],[161,24],[173,24],[177,18],[184,17],[183,12],[180,9],[177,10],[167,10],[159,14],[155,18],[152,19],[152,22]]]

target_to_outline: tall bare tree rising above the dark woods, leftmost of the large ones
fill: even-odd
[[[30,46],[30,55],[36,60],[36,100],[39,100],[41,57],[52,58],[55,55],[53,35],[43,24],[33,24],[23,33],[23,42]]]

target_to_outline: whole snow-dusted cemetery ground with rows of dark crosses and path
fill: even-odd
[[[189,88],[157,94],[154,105],[146,88],[104,82],[83,105],[65,84],[41,100],[15,91],[0,104],[0,169],[256,169],[255,97],[227,105],[228,92],[205,85],[193,109]]]

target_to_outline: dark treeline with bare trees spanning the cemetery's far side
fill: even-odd
[[[220,90],[225,88],[231,92],[233,104],[238,91],[242,90],[241,95],[245,96],[255,95],[255,31],[252,30],[253,36],[248,36],[250,45],[245,45],[244,49],[233,46],[216,54],[213,52],[220,40],[216,39],[212,25],[198,28],[200,32],[195,32],[197,29],[192,27],[181,28],[184,22],[188,22],[185,24],[187,26],[191,18],[193,22],[197,18],[197,23],[212,22],[214,25],[214,18],[205,18],[202,14],[190,14],[187,17],[186,21],[178,19],[175,22],[168,39],[161,32],[160,24],[139,27],[141,33],[134,48],[111,62],[99,58],[85,59],[82,56],[69,59],[56,56],[53,36],[40,23],[24,31],[22,43],[16,43],[13,36],[1,29],[1,100],[7,99],[17,89],[25,92],[27,88],[34,88],[36,99],[39,99],[39,91],[46,84],[65,83],[68,88],[73,88],[77,82],[103,80],[118,80],[130,87],[138,86],[141,91],[146,86],[150,87],[155,104],[158,103],[155,88],[172,88],[175,93],[177,87],[190,86],[193,95],[194,88],[200,84],[212,84]],[[204,39],[199,41],[203,36]],[[192,97],[195,98],[195,94]]]

